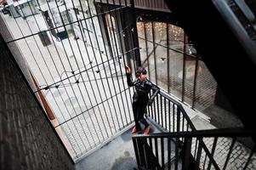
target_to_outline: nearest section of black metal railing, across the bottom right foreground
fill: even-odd
[[[133,142],[139,169],[254,169],[255,143],[250,149],[237,138],[255,133],[255,130],[230,128],[138,134]],[[243,154],[238,155],[237,148],[243,148],[247,154],[242,150]]]

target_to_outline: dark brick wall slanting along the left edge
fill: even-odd
[[[0,169],[74,169],[0,40]]]

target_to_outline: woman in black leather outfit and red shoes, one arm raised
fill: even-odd
[[[156,94],[160,89],[146,78],[146,70],[143,67],[139,67],[135,72],[137,79],[134,82],[131,80],[131,70],[128,66],[125,66],[125,71],[127,74],[128,86],[134,86],[136,90],[133,97],[135,127],[133,128],[132,133],[142,133],[139,125],[139,122],[141,122],[145,126],[143,133],[148,134],[150,133],[150,125],[144,118],[145,109],[147,105],[152,104],[153,99],[156,97]],[[151,98],[149,99],[148,94],[150,93],[151,89],[153,89],[154,94],[152,94]]]

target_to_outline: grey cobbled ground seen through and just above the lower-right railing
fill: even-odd
[[[195,124],[197,129],[212,129],[216,128],[209,122],[202,119],[202,117],[195,116],[192,118],[192,122]],[[247,162],[247,158],[250,154],[251,149],[247,147],[247,141],[250,139],[238,139],[234,145],[232,152],[230,153],[230,161],[227,164],[226,169],[234,170],[234,169],[242,169]],[[213,138],[204,138],[203,141],[208,146],[208,150],[212,150],[213,147]],[[219,138],[217,141],[216,149],[214,152],[214,160],[217,162],[220,168],[223,168],[225,165],[226,156],[229,153],[230,145],[232,139],[230,138]],[[249,144],[252,146],[251,144]],[[196,140],[193,140],[192,144],[192,151],[193,154],[195,151]],[[204,162],[205,152],[202,151],[202,159],[201,159],[201,166],[208,167],[208,160],[206,163]],[[251,161],[247,169],[256,169],[256,154],[253,155]]]

